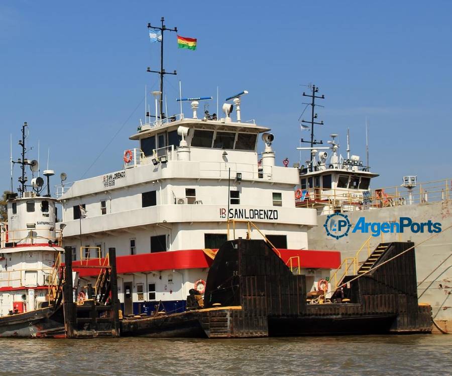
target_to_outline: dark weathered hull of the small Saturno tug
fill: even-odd
[[[61,307],[0,317],[0,337],[64,338],[64,317]]]

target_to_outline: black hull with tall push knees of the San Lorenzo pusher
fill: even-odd
[[[304,276],[292,274],[265,242],[230,241],[221,246],[209,269],[204,309],[123,320],[122,335],[429,333],[431,307],[418,306],[414,252],[404,252],[409,248],[412,243],[387,244],[381,268],[352,281],[349,277],[344,293],[350,303],[307,304]]]

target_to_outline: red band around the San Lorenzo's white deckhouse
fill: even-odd
[[[292,258],[292,267],[294,268],[298,267],[298,260],[301,268],[336,269],[341,264],[341,253],[338,251],[294,249],[281,249],[279,251],[284,263],[289,266],[289,260]],[[202,249],[118,256],[116,260],[118,274],[208,268],[212,264],[212,260],[205,255]],[[88,261],[90,266],[98,264],[98,259]],[[80,261],[72,263],[74,270],[79,272],[80,277],[97,276],[100,272],[100,269],[94,268],[77,269],[77,265],[80,265]],[[83,261],[83,265],[86,265],[86,261]]]

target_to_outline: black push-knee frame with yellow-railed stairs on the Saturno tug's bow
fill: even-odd
[[[87,296],[83,301],[74,302],[71,247],[65,247],[64,261],[63,311],[66,338],[119,337],[116,249],[109,248],[108,257],[102,264],[99,262],[98,266],[77,265],[77,269],[99,269],[96,286],[88,286]]]

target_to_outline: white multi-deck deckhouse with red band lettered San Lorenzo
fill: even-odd
[[[140,125],[130,137],[139,145],[124,151],[122,170],[62,190],[64,245],[78,262],[116,247],[125,314],[150,313],[156,305],[184,309],[189,290],[202,290],[209,251],[228,240],[228,223],[231,239],[265,236],[310,285],[338,266],[338,252],[305,251],[317,212],[295,207],[299,172],[275,165],[270,129],[241,121],[246,93],[223,105],[221,119],[198,118],[198,100],[192,100],[191,118]],[[88,274],[80,272],[81,282]]]

